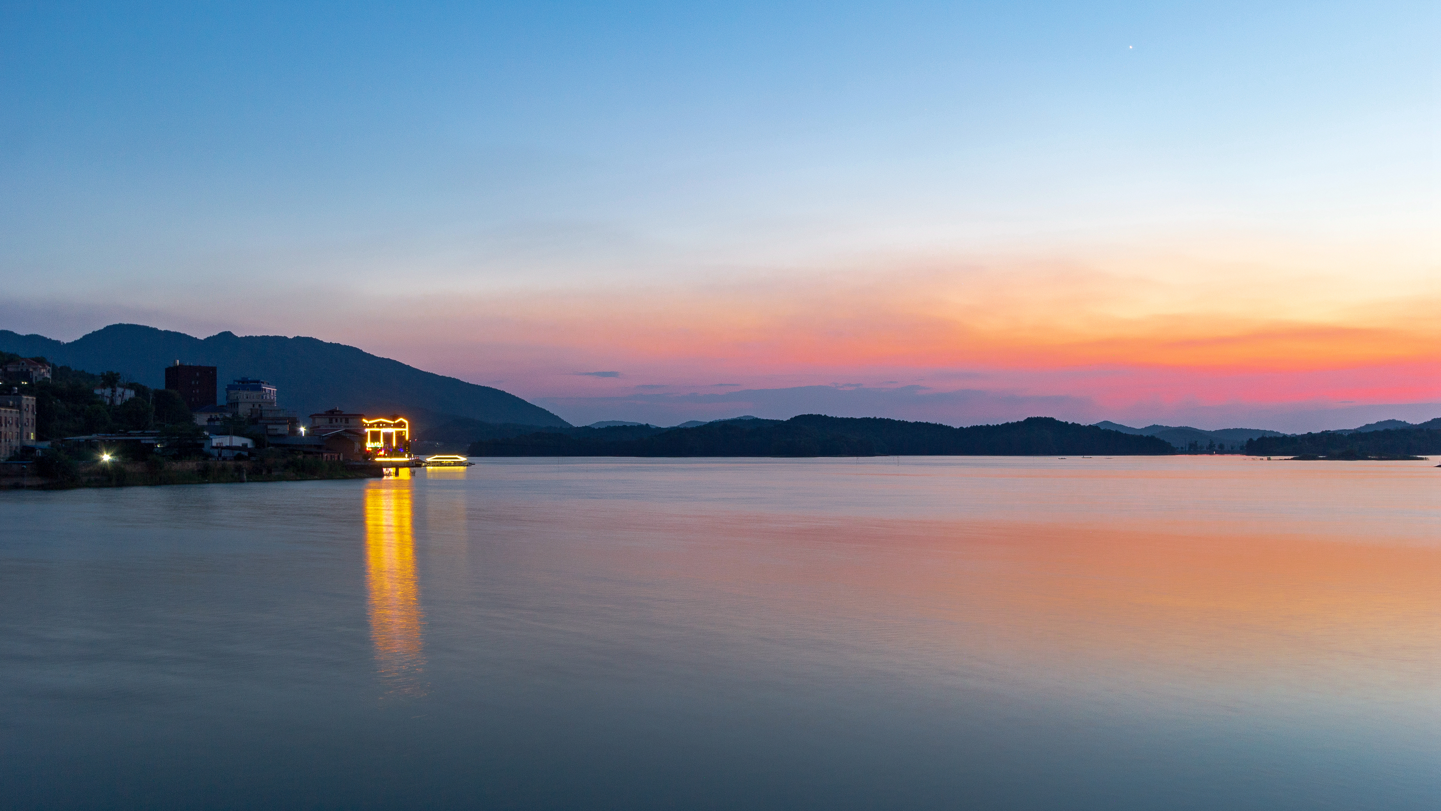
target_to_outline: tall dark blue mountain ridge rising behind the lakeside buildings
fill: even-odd
[[[164,367],[177,359],[219,367],[220,399],[235,377],[262,377],[280,389],[280,405],[301,416],[327,408],[366,413],[454,415],[486,422],[562,426],[569,424],[526,400],[455,377],[317,339],[219,333],[196,339],[138,324],[111,324],[69,343],[0,330],[0,350],[42,356],[89,372],[120,372],[127,380],[164,387]],[[432,421],[434,421],[432,419]]]

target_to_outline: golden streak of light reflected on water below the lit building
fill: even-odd
[[[409,487],[376,483],[365,493],[366,591],[379,676],[392,693],[424,696],[419,582]]]

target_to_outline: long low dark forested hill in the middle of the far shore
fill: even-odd
[[[934,422],[807,413],[653,429],[611,439],[537,432],[473,442],[473,457],[875,457],[875,455],[1164,455],[1170,444],[1091,425],[1033,416],[1004,425],[951,428]]]

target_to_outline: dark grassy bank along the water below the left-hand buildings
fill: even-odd
[[[316,481],[376,478],[380,468],[290,458],[252,462],[166,461],[45,465],[29,475],[0,480],[0,488],[71,490],[75,487],[151,487],[160,484],[226,484],[252,481]]]

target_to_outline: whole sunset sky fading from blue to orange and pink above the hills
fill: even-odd
[[[1434,3],[0,3],[0,328],[571,422],[1441,416]]]

